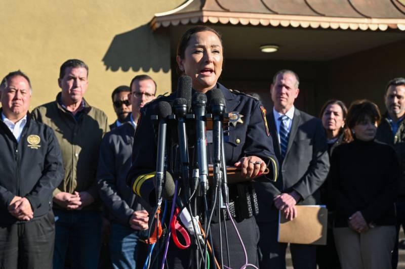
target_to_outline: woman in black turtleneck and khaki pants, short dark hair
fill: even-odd
[[[334,235],[342,268],[391,266],[399,163],[395,151],[375,141],[377,105],[354,102],[346,124],[353,142],[337,147],[329,174]]]

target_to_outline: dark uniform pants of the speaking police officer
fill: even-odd
[[[240,222],[235,222],[236,228],[240,234],[242,241],[244,242],[245,249],[248,254],[248,263],[259,265],[259,260],[257,257],[257,244],[259,242],[259,228],[256,225],[256,220],[254,217],[244,219]],[[228,245],[229,245],[229,256],[230,265],[228,264],[227,249],[226,249],[226,238],[225,238],[225,225],[228,234]],[[214,253],[221,264],[221,251],[220,251],[220,236],[219,236],[219,225],[218,223],[211,224],[211,234],[214,244]],[[221,223],[221,235],[222,235],[222,257],[224,265],[230,268],[240,268],[246,264],[246,257],[244,249],[240,244],[238,235],[233,227],[231,220],[226,220]],[[174,244],[172,239],[169,245],[169,252],[167,256],[167,262],[169,268],[183,269],[183,268],[195,268],[195,261],[193,260],[193,255],[191,254],[190,248],[185,250],[178,249]],[[210,256],[210,267],[215,268],[214,260]],[[249,267],[249,266],[248,266]]]

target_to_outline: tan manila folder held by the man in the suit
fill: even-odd
[[[324,205],[296,205],[297,217],[278,212],[278,242],[326,245],[328,209]]]

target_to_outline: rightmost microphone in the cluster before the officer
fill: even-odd
[[[228,201],[228,186],[226,180],[226,164],[223,149],[223,114],[225,113],[225,98],[218,88],[211,90],[210,109],[213,116],[213,165],[214,183],[218,187],[223,185],[224,200]],[[224,170],[225,167],[225,170]],[[221,171],[222,170],[222,171]],[[223,181],[222,181],[223,179]]]

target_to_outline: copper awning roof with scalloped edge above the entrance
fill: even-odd
[[[155,14],[150,26],[155,30],[198,22],[405,31],[405,0],[188,0]]]

